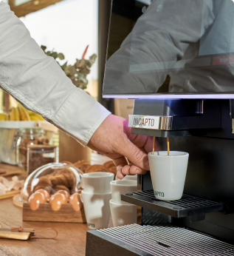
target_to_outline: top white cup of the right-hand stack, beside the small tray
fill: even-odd
[[[128,204],[121,201],[121,194],[128,192],[137,192],[136,181],[111,181],[111,195],[115,203]]]

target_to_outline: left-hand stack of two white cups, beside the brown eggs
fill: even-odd
[[[114,180],[111,172],[90,172],[81,176],[81,201],[89,229],[106,229],[111,216],[110,182]]]

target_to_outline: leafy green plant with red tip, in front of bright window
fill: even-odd
[[[93,54],[92,56],[90,56],[89,60],[86,60],[84,58],[88,47],[86,47],[86,50],[83,53],[83,57],[80,60],[76,59],[76,62],[74,65],[67,65],[67,61],[65,64],[61,65],[58,62],[58,59],[60,59],[61,61],[65,59],[63,53],[56,53],[53,50],[46,51],[47,47],[45,47],[44,45],[41,45],[41,49],[44,50],[44,53],[52,58],[55,58],[55,60],[58,62],[61,69],[66,74],[66,76],[68,76],[72,80],[72,83],[75,84],[76,87],[79,87],[80,89],[83,89],[83,90],[86,89],[88,84],[86,75],[90,73],[90,68],[92,67],[92,64],[94,64],[97,58],[96,54]]]

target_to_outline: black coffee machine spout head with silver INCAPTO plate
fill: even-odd
[[[128,127],[133,134],[162,138],[206,135],[207,130],[221,129],[221,102],[137,99]]]

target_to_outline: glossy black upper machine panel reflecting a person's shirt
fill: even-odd
[[[233,98],[233,17],[232,0],[112,0],[103,97]]]

